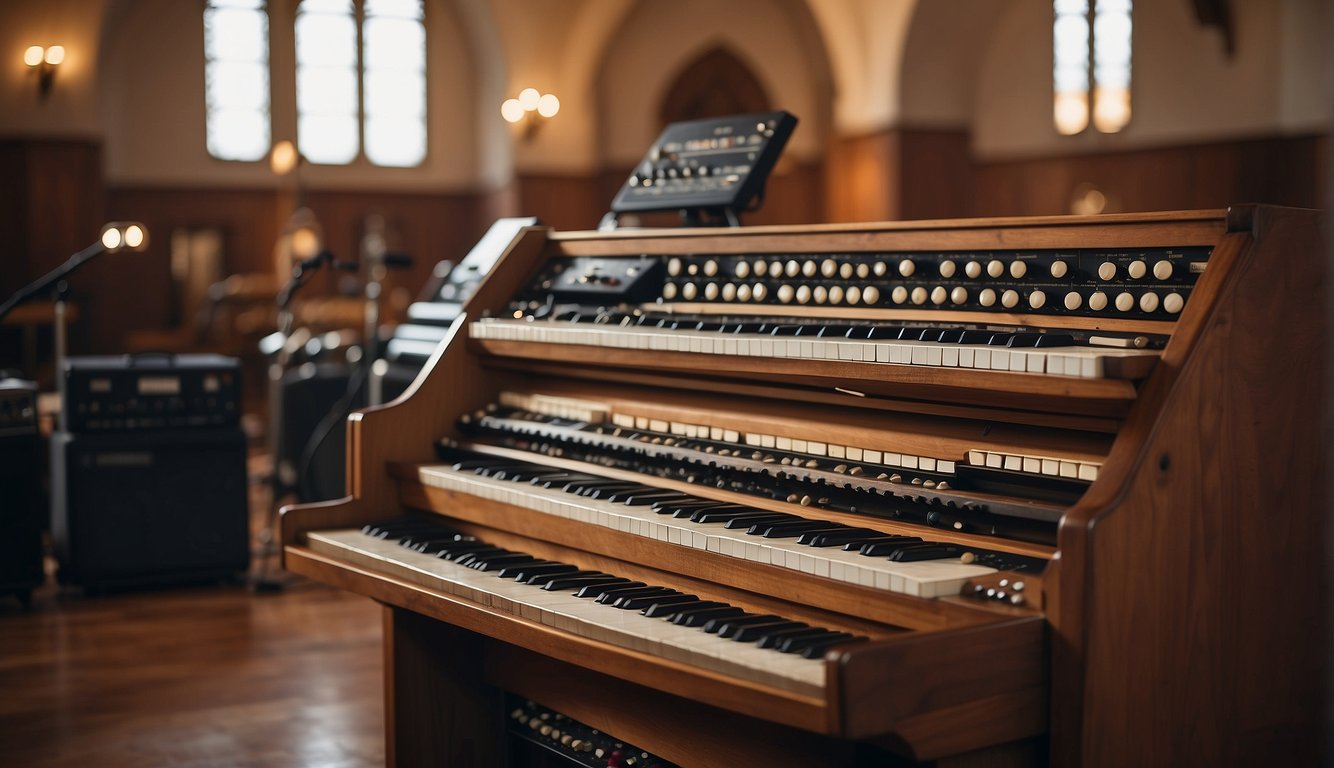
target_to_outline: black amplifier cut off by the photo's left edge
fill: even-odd
[[[36,384],[0,379],[0,595],[25,604],[44,580],[40,440]]]

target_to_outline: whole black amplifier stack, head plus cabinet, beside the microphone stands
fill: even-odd
[[[72,357],[51,437],[60,580],[91,591],[205,581],[249,567],[240,363]]]

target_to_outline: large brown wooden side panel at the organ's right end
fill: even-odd
[[[1062,528],[1057,623],[1077,628],[1062,641],[1078,672],[1055,671],[1061,763],[1314,764],[1323,748],[1317,227],[1257,213],[1257,244],[1221,285],[1131,480]]]

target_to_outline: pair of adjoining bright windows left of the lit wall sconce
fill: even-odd
[[[422,0],[303,0],[296,108],[297,145],[311,163],[351,163],[364,147],[376,165],[419,165],[426,159]]]

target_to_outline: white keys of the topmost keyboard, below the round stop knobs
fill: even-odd
[[[968,368],[1011,373],[1047,373],[1101,379],[1106,361],[1117,357],[1153,357],[1149,349],[1093,349],[1087,347],[1010,348],[988,344],[947,344],[911,340],[850,340],[759,333],[663,331],[659,328],[588,325],[578,323],[518,323],[487,319],[474,323],[476,339],[583,344],[615,349],[691,352],[787,360],[840,360]]]

